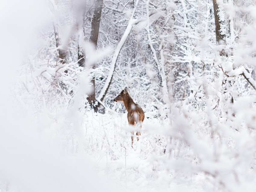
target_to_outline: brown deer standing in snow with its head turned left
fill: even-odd
[[[133,99],[130,97],[130,95],[128,94],[128,89],[127,87],[124,88],[124,90],[121,91],[121,93],[114,98],[114,101],[121,101],[124,104],[124,107],[126,108],[126,110],[128,111],[127,114],[127,119],[128,119],[128,123],[129,125],[133,125],[136,126],[136,124],[140,124],[140,129],[142,128],[142,122],[144,121],[144,111],[142,110],[142,108],[134,103]],[[133,135],[134,132],[132,132],[132,147],[133,147]],[[140,135],[140,131],[136,132],[136,135],[139,136]],[[139,141],[139,137],[137,137],[137,141]]]

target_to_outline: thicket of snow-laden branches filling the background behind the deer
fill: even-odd
[[[113,107],[111,99],[125,86],[135,98],[143,98],[139,100],[143,105],[152,102],[168,105],[170,99],[183,101],[197,91],[195,84],[205,76],[204,70],[212,75],[212,79],[222,71],[225,75],[223,85],[227,84],[224,81],[231,69],[225,69],[225,63],[233,65],[234,52],[243,47],[237,45],[246,44],[239,40],[243,38],[242,33],[246,33],[245,26],[251,23],[250,11],[246,10],[244,2],[236,2],[238,5],[222,2],[221,6],[227,9],[226,12],[222,9],[221,15],[226,22],[221,29],[225,33],[225,45],[216,46],[211,1],[142,1],[136,6],[136,2],[105,1],[94,53],[89,44],[94,3],[49,3],[48,11],[54,22],[38,35],[45,44],[34,51],[35,59],[25,62],[26,67],[34,71],[33,79],[49,85],[39,87],[43,92],[47,91],[43,97],[53,94],[59,95],[58,100],[72,101],[77,93],[78,79],[86,69],[90,79],[95,80],[96,99],[103,97],[104,85],[110,83],[109,76],[113,74],[103,100],[108,107]],[[230,15],[230,12],[236,14]],[[131,20],[133,24],[128,26]],[[126,30],[129,27],[131,30]],[[118,47],[121,39],[123,45]],[[226,58],[217,54],[223,47]],[[117,58],[113,58],[114,51],[117,51]],[[96,63],[93,68],[92,62]],[[244,64],[238,63],[233,69]],[[246,64],[251,66],[251,63]],[[247,88],[244,87],[245,91],[240,94]]]

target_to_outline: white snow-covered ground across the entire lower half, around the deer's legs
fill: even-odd
[[[199,109],[187,113],[187,105],[173,105],[165,117],[146,111],[134,148],[130,131],[137,128],[128,126],[127,113],[36,110],[18,95],[6,101],[1,192],[254,191],[255,110],[249,98],[233,105],[232,121]]]

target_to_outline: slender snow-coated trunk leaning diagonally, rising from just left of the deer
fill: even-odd
[[[133,24],[137,20],[137,19],[134,19],[133,16],[134,16],[134,13],[136,11],[138,2],[139,2],[139,0],[136,1],[136,4],[134,6],[134,9],[133,9],[131,18],[130,18],[130,20],[128,22],[128,25],[127,25],[124,33],[123,33],[123,36],[122,36],[120,42],[118,43],[118,45],[117,45],[117,47],[115,49],[114,56],[112,57],[112,61],[111,61],[111,67],[110,67],[110,70],[109,70],[109,73],[108,73],[108,78],[106,79],[105,85],[101,89],[101,92],[100,92],[97,100],[103,101],[105,95],[108,92],[108,88],[109,88],[109,86],[111,84],[111,81],[112,81],[112,78],[113,78],[113,75],[114,75],[114,71],[115,71],[115,68],[116,68],[117,58],[118,58],[118,56],[120,54],[120,51],[121,51],[124,43],[126,42],[127,37],[129,36],[129,34],[130,34],[130,32],[131,32],[131,30],[133,28]]]

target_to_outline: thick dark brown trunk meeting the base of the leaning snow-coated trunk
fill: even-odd
[[[100,19],[101,19],[101,10],[102,10],[103,0],[95,0],[95,9],[93,11],[92,17],[92,26],[91,26],[91,34],[90,34],[90,42],[92,43],[94,49],[97,48],[98,35],[99,35],[99,27],[100,27]],[[92,69],[95,69],[95,63],[92,65]],[[90,107],[94,109],[95,112],[98,111],[98,107],[95,106],[95,78],[91,79],[92,91],[89,93],[87,100],[90,104]]]

